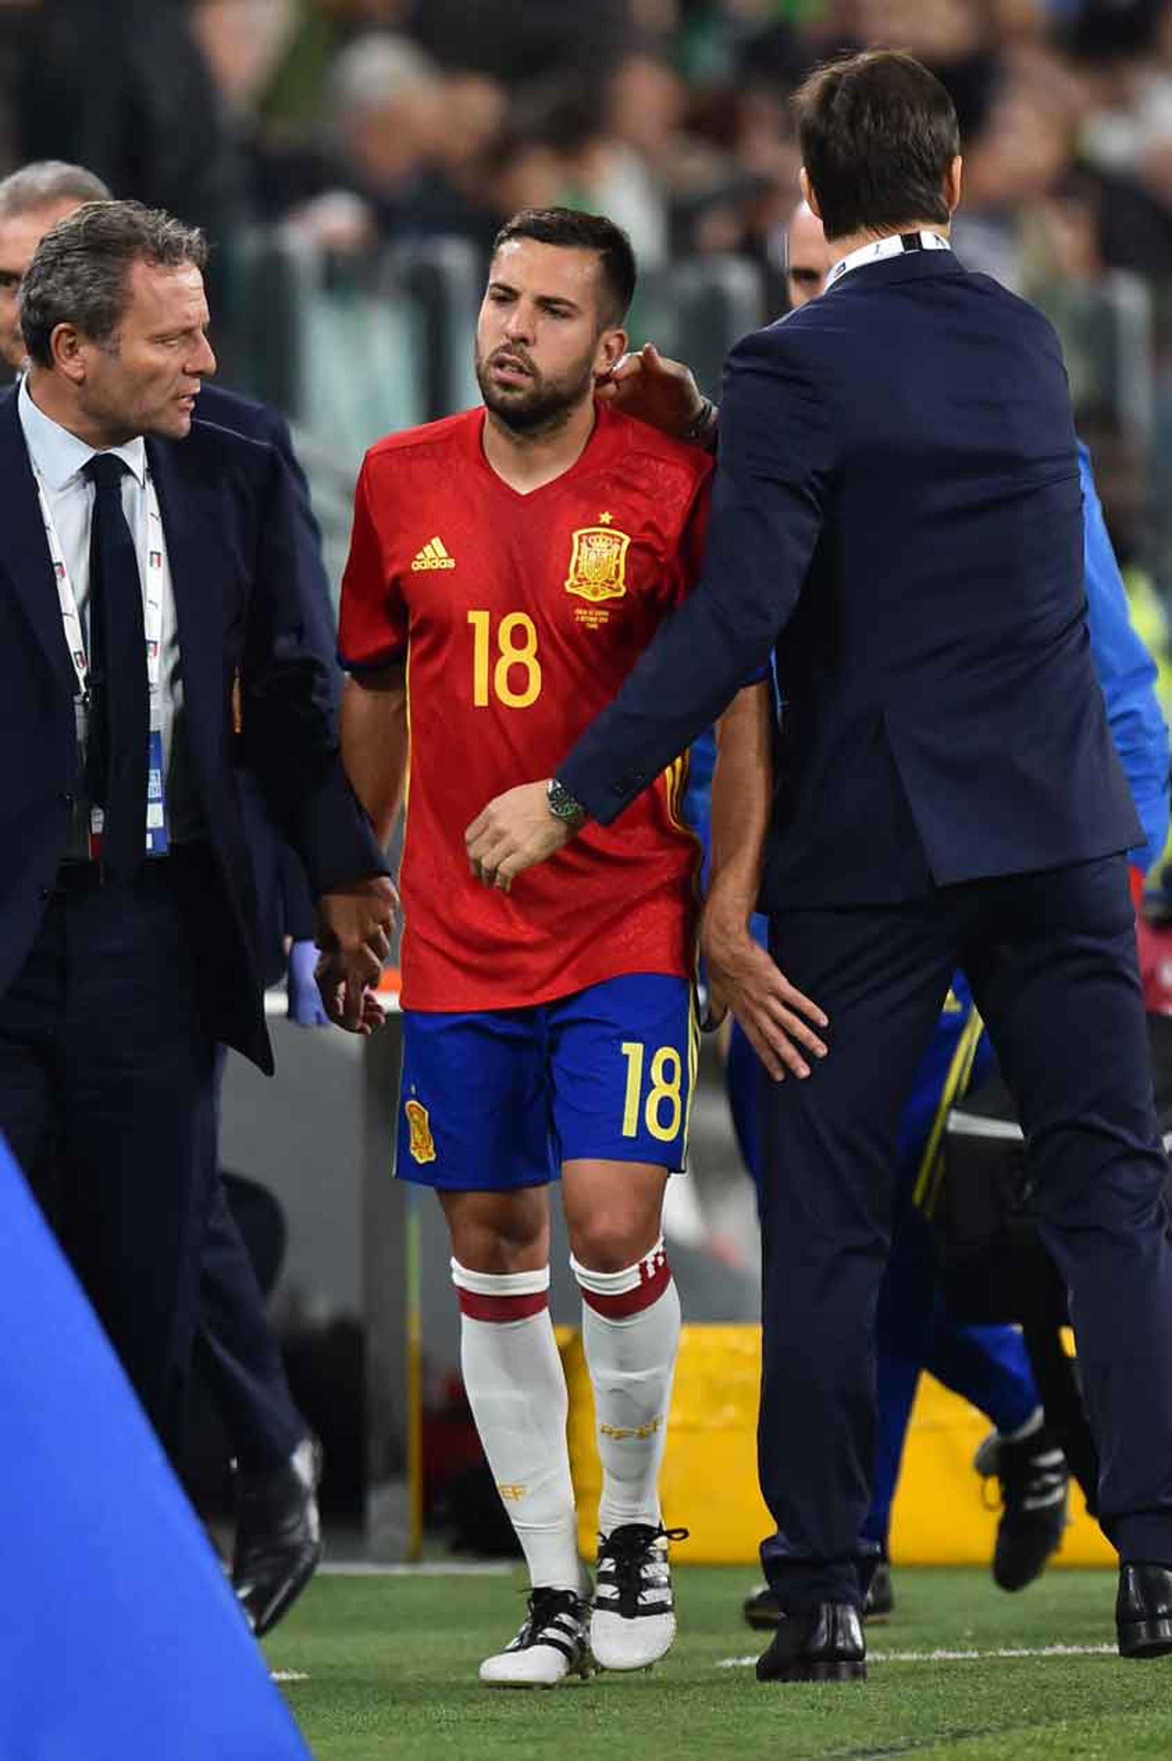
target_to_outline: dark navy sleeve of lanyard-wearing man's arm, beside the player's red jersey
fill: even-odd
[[[386,873],[386,863],[342,770],[337,669],[314,611],[293,481],[271,447],[266,467],[240,669],[243,761],[321,895]]]

